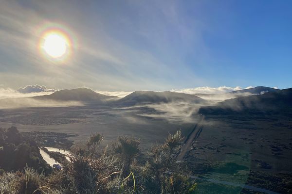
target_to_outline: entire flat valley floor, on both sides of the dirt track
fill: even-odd
[[[99,132],[105,136],[102,146],[119,135],[133,135],[141,138],[141,147],[146,150],[156,142],[164,142],[168,132],[182,129],[186,140],[179,161],[186,163],[193,175],[278,193],[292,192],[291,118],[193,114],[185,119],[183,113],[180,117],[164,108],[165,111],[146,106],[7,109],[0,110],[0,126],[16,126],[22,132],[40,131],[33,134],[39,143],[45,141],[41,146],[66,149],[72,141],[85,142],[91,132]],[[218,188],[218,194],[253,193],[199,182],[202,193],[209,187]]]

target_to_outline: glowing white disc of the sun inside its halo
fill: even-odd
[[[62,57],[67,51],[66,39],[57,33],[48,34],[44,38],[43,49],[53,58]]]

